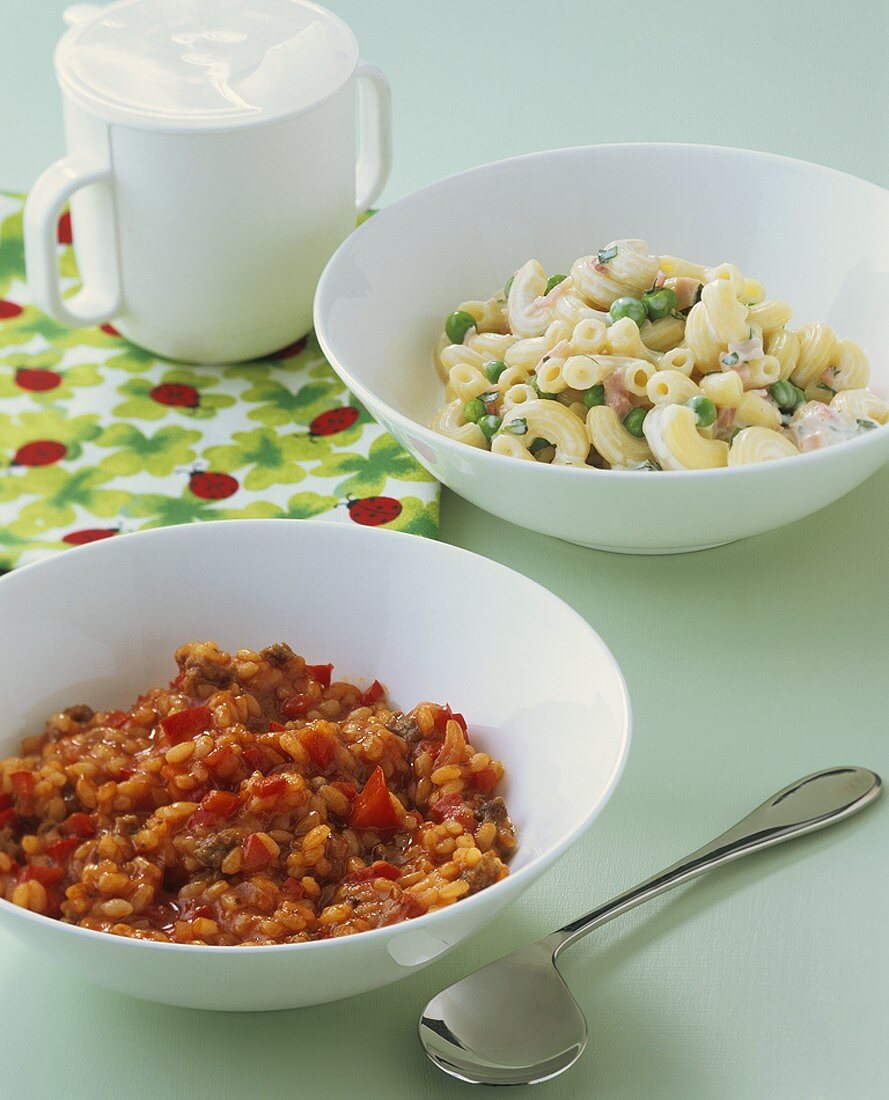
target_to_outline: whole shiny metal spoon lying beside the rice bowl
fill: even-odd
[[[426,1054],[473,1085],[529,1085],[564,1072],[586,1046],[586,1021],[556,968],[588,932],[705,871],[848,817],[880,793],[866,768],[806,776],[727,833],[626,893],[442,990],[419,1023]]]

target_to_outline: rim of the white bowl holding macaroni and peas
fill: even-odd
[[[315,304],[314,304],[314,322],[315,322],[315,333],[318,338],[318,342],[321,346],[321,351],[325,353],[330,365],[333,367],[336,373],[345,383],[349,389],[365,405],[367,405],[372,410],[382,409],[381,415],[385,416],[387,419],[396,424],[405,432],[415,433],[416,438],[420,441],[435,446],[437,448],[443,449],[446,452],[452,453],[456,458],[467,459],[467,452],[474,452],[474,458],[481,463],[482,468],[486,464],[494,462],[493,470],[504,469],[502,463],[509,462],[512,468],[515,469],[517,465],[525,471],[525,476],[528,477],[541,477],[546,481],[552,481],[556,477],[562,479],[577,479],[578,476],[585,477],[589,480],[594,480],[596,477],[607,477],[613,479],[615,475],[625,479],[627,481],[638,481],[639,479],[648,480],[651,475],[651,471],[648,470],[599,470],[595,466],[567,466],[567,465],[551,465],[546,462],[535,462],[533,465],[535,472],[531,472],[531,463],[523,462],[516,463],[514,459],[511,459],[506,454],[495,454],[493,451],[487,451],[478,447],[468,447],[465,443],[461,443],[456,439],[451,439],[449,436],[443,436],[440,432],[435,431],[428,425],[421,424],[419,420],[415,420],[404,413],[399,413],[397,409],[393,408],[387,402],[383,400],[382,397],[375,395],[370,391],[363,383],[361,383],[352,372],[345,367],[337,355],[334,350],[334,339],[332,338],[328,326],[326,323],[327,314],[329,311],[329,306],[334,301],[339,300],[339,296],[336,293],[336,288],[331,285],[333,284],[336,277],[336,267],[340,263],[344,263],[344,257],[354,248],[354,242],[359,238],[359,234],[371,232],[371,224],[385,226],[393,217],[396,216],[396,211],[400,209],[410,208],[417,202],[421,201],[429,195],[433,195],[436,191],[446,190],[451,184],[459,179],[471,178],[474,176],[482,176],[492,169],[498,169],[505,166],[519,166],[522,164],[528,164],[534,161],[542,161],[547,158],[558,158],[571,153],[590,153],[592,151],[610,153],[614,151],[623,151],[627,148],[634,148],[638,151],[646,150],[674,150],[681,152],[703,152],[705,155],[727,155],[734,156],[738,160],[746,161],[764,161],[764,162],[777,162],[783,165],[793,165],[795,167],[804,168],[806,172],[811,172],[815,175],[830,176],[842,180],[844,184],[853,183],[856,186],[872,189],[874,191],[880,193],[885,199],[889,199],[889,188],[881,187],[879,184],[875,184],[872,180],[863,179],[860,176],[853,176],[848,172],[841,172],[838,168],[831,168],[827,165],[817,164],[814,161],[802,161],[792,156],[784,156],[779,153],[767,153],[759,150],[751,148],[739,148],[732,145],[711,145],[704,142],[607,142],[602,144],[592,145],[566,145],[559,148],[541,150],[536,153],[524,153],[519,156],[508,156],[503,157],[500,161],[490,161],[486,164],[475,165],[471,168],[465,168],[462,172],[452,173],[449,176],[444,176],[441,179],[435,180],[431,184],[427,184],[425,187],[413,191],[410,195],[406,195],[400,199],[389,206],[384,207],[377,211],[373,218],[367,219],[365,223],[359,226],[349,237],[342,242],[342,244],[337,249],[333,255],[325,265],[325,270],[321,273],[321,277],[318,280],[318,286],[315,293]],[[429,349],[429,358],[431,360],[432,348]],[[432,375],[435,376],[435,375]],[[440,380],[438,380],[440,382]],[[880,428],[886,427],[889,429],[889,425],[881,425]],[[844,440],[841,444],[834,447],[825,447],[816,451],[805,451],[800,454],[786,455],[779,459],[770,459],[767,462],[748,463],[738,466],[713,466],[704,470],[659,470],[656,471],[658,475],[658,481],[660,482],[665,475],[671,480],[682,479],[682,480],[706,480],[712,477],[726,479],[728,476],[734,477],[753,477],[761,476],[762,469],[769,469],[776,464],[782,469],[788,462],[793,462],[793,469],[809,470],[815,469],[815,464],[821,462],[831,461],[831,457],[835,455],[837,451],[841,453],[849,453],[850,448],[857,448],[858,450],[864,450],[868,447],[886,447],[889,448],[889,430],[887,430],[886,439],[887,443],[880,442],[882,439],[882,432],[878,429],[877,431],[868,431],[855,439]],[[411,453],[414,451],[411,450]],[[416,457],[416,455],[415,455]],[[422,462],[421,459],[418,461]],[[805,466],[800,466],[801,461],[806,463]],[[425,463],[424,463],[425,464]],[[498,465],[500,464],[500,465]],[[428,466],[427,466],[428,469]],[[548,471],[548,472],[547,472]]]

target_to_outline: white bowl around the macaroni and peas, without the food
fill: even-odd
[[[757,535],[837,499],[889,458],[889,430],[758,466],[613,472],[518,462],[431,431],[431,348],[460,301],[534,256],[550,272],[615,238],[731,261],[858,341],[889,392],[889,191],[786,157],[703,145],[593,145],[451,176],[386,208],[330,260],[315,299],[333,367],[450,488],[523,527],[636,553]]]

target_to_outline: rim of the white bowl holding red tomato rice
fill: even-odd
[[[409,535],[404,531],[383,531],[373,530],[364,527],[344,527],[340,524],[331,524],[330,521],[319,520],[319,519],[222,519],[215,520],[212,524],[177,524],[167,527],[155,527],[149,530],[142,531],[131,531],[123,536],[123,538],[118,539],[103,539],[99,542],[87,543],[83,547],[74,547],[64,553],[56,553],[51,558],[43,558],[34,562],[30,562],[26,565],[22,565],[11,573],[0,579],[0,604],[3,601],[3,593],[9,592],[11,586],[17,583],[17,578],[28,575],[33,576],[34,570],[40,570],[40,575],[43,576],[45,571],[50,569],[64,569],[64,563],[67,561],[73,553],[85,554],[90,553],[92,558],[96,559],[96,566],[100,568],[102,556],[108,554],[120,554],[125,551],[116,550],[114,547],[128,544],[129,539],[142,539],[146,541],[147,539],[155,539],[156,541],[163,542],[165,539],[175,542],[177,539],[185,538],[207,538],[211,537],[210,532],[222,528],[231,530],[232,528],[244,528],[245,530],[262,528],[264,530],[270,529],[270,525],[278,526],[281,524],[292,524],[298,525],[295,527],[295,531],[303,529],[320,529],[329,531],[339,531],[339,535],[331,535],[332,538],[344,538],[353,539],[355,542],[361,542],[367,538],[385,538],[385,539],[399,539],[403,540],[402,544],[407,544],[408,539],[413,539],[413,544],[417,548],[417,552],[430,553],[432,556],[439,554],[444,558],[454,559],[481,559],[486,566],[490,566],[495,572],[501,572],[505,576],[512,579],[512,583],[518,581],[519,585],[526,585],[533,588],[541,590],[547,598],[555,601],[557,604],[561,605],[564,613],[568,614],[570,618],[573,618],[575,623],[581,627],[583,631],[589,636],[590,641],[596,647],[602,656],[605,658],[606,664],[608,666],[611,672],[616,678],[616,685],[621,700],[621,712],[615,715],[617,725],[619,727],[619,747],[617,752],[617,760],[612,768],[611,774],[607,777],[607,781],[603,789],[601,798],[597,800],[595,805],[588,810],[583,820],[568,834],[566,834],[560,840],[551,845],[546,850],[541,851],[539,855],[533,857],[529,862],[519,868],[515,872],[509,872],[505,879],[501,879],[500,882],[495,882],[487,887],[485,890],[479,891],[469,898],[459,899],[454,905],[462,906],[459,912],[465,913],[469,910],[465,906],[473,906],[474,909],[480,908],[485,901],[485,895],[491,897],[492,890],[500,890],[503,893],[502,888],[509,889],[514,895],[524,892],[530,883],[538,878],[544,871],[552,866],[567,850],[572,847],[586,831],[591,827],[593,822],[596,820],[599,814],[605,807],[610,801],[615,788],[624,772],[626,767],[627,756],[629,754],[630,740],[632,740],[632,708],[629,701],[629,693],[627,691],[626,680],[624,678],[623,671],[617,663],[616,658],[612,653],[608,646],[605,644],[601,635],[591,626],[583,616],[574,610],[570,604],[566,603],[560,596],[557,596],[553,592],[550,592],[545,585],[539,584],[537,581],[529,576],[525,576],[524,573],[519,573],[517,570],[512,569],[508,565],[504,565],[498,561],[494,561],[491,558],[486,558],[484,554],[474,553],[471,550],[465,550],[462,547],[456,547],[448,542],[441,542],[437,539],[428,539],[421,536]],[[274,529],[274,527],[272,528]],[[189,535],[188,532],[204,532],[207,535]],[[301,537],[301,536],[297,536]],[[309,539],[312,538],[311,534],[307,536]],[[414,551],[409,551],[414,553]],[[83,561],[83,558],[76,559]],[[518,886],[516,886],[518,883]],[[382,941],[387,942],[393,935],[399,935],[404,931],[422,930],[435,933],[435,930],[439,927],[442,923],[448,922],[453,919],[454,905],[448,905],[443,909],[437,910],[433,913],[424,913],[420,916],[411,917],[407,921],[400,921],[396,924],[384,925],[380,928],[370,928],[366,932],[354,933],[350,936],[342,936],[332,939],[312,939],[300,944],[244,944],[244,945],[213,945],[213,944],[175,944],[175,943],[161,943],[153,939],[136,939],[129,936],[114,936],[112,933],[99,932],[94,928],[83,928],[76,924],[67,924],[57,917],[45,916],[42,913],[33,913],[30,910],[23,909],[20,905],[13,905],[12,902],[0,898],[0,914],[9,913],[13,917],[20,917],[26,921],[36,921],[44,927],[52,927],[58,930],[63,935],[70,934],[77,936],[87,936],[88,938],[96,938],[99,943],[118,943],[121,945],[135,945],[139,948],[153,948],[163,952],[187,952],[197,953],[198,955],[207,955],[208,953],[217,954],[219,952],[223,953],[224,956],[233,955],[240,958],[243,955],[253,955],[260,953],[263,957],[271,954],[281,954],[289,952],[307,952],[307,950],[330,950],[336,948],[338,944],[352,943],[355,941],[360,943],[371,943],[371,937],[374,942]],[[495,915],[495,914],[494,914]],[[489,917],[491,920],[491,917]],[[484,921],[483,923],[489,923]],[[127,949],[127,948],[122,948]],[[355,948],[356,949],[356,948]],[[416,967],[406,967],[405,974],[416,969]]]

